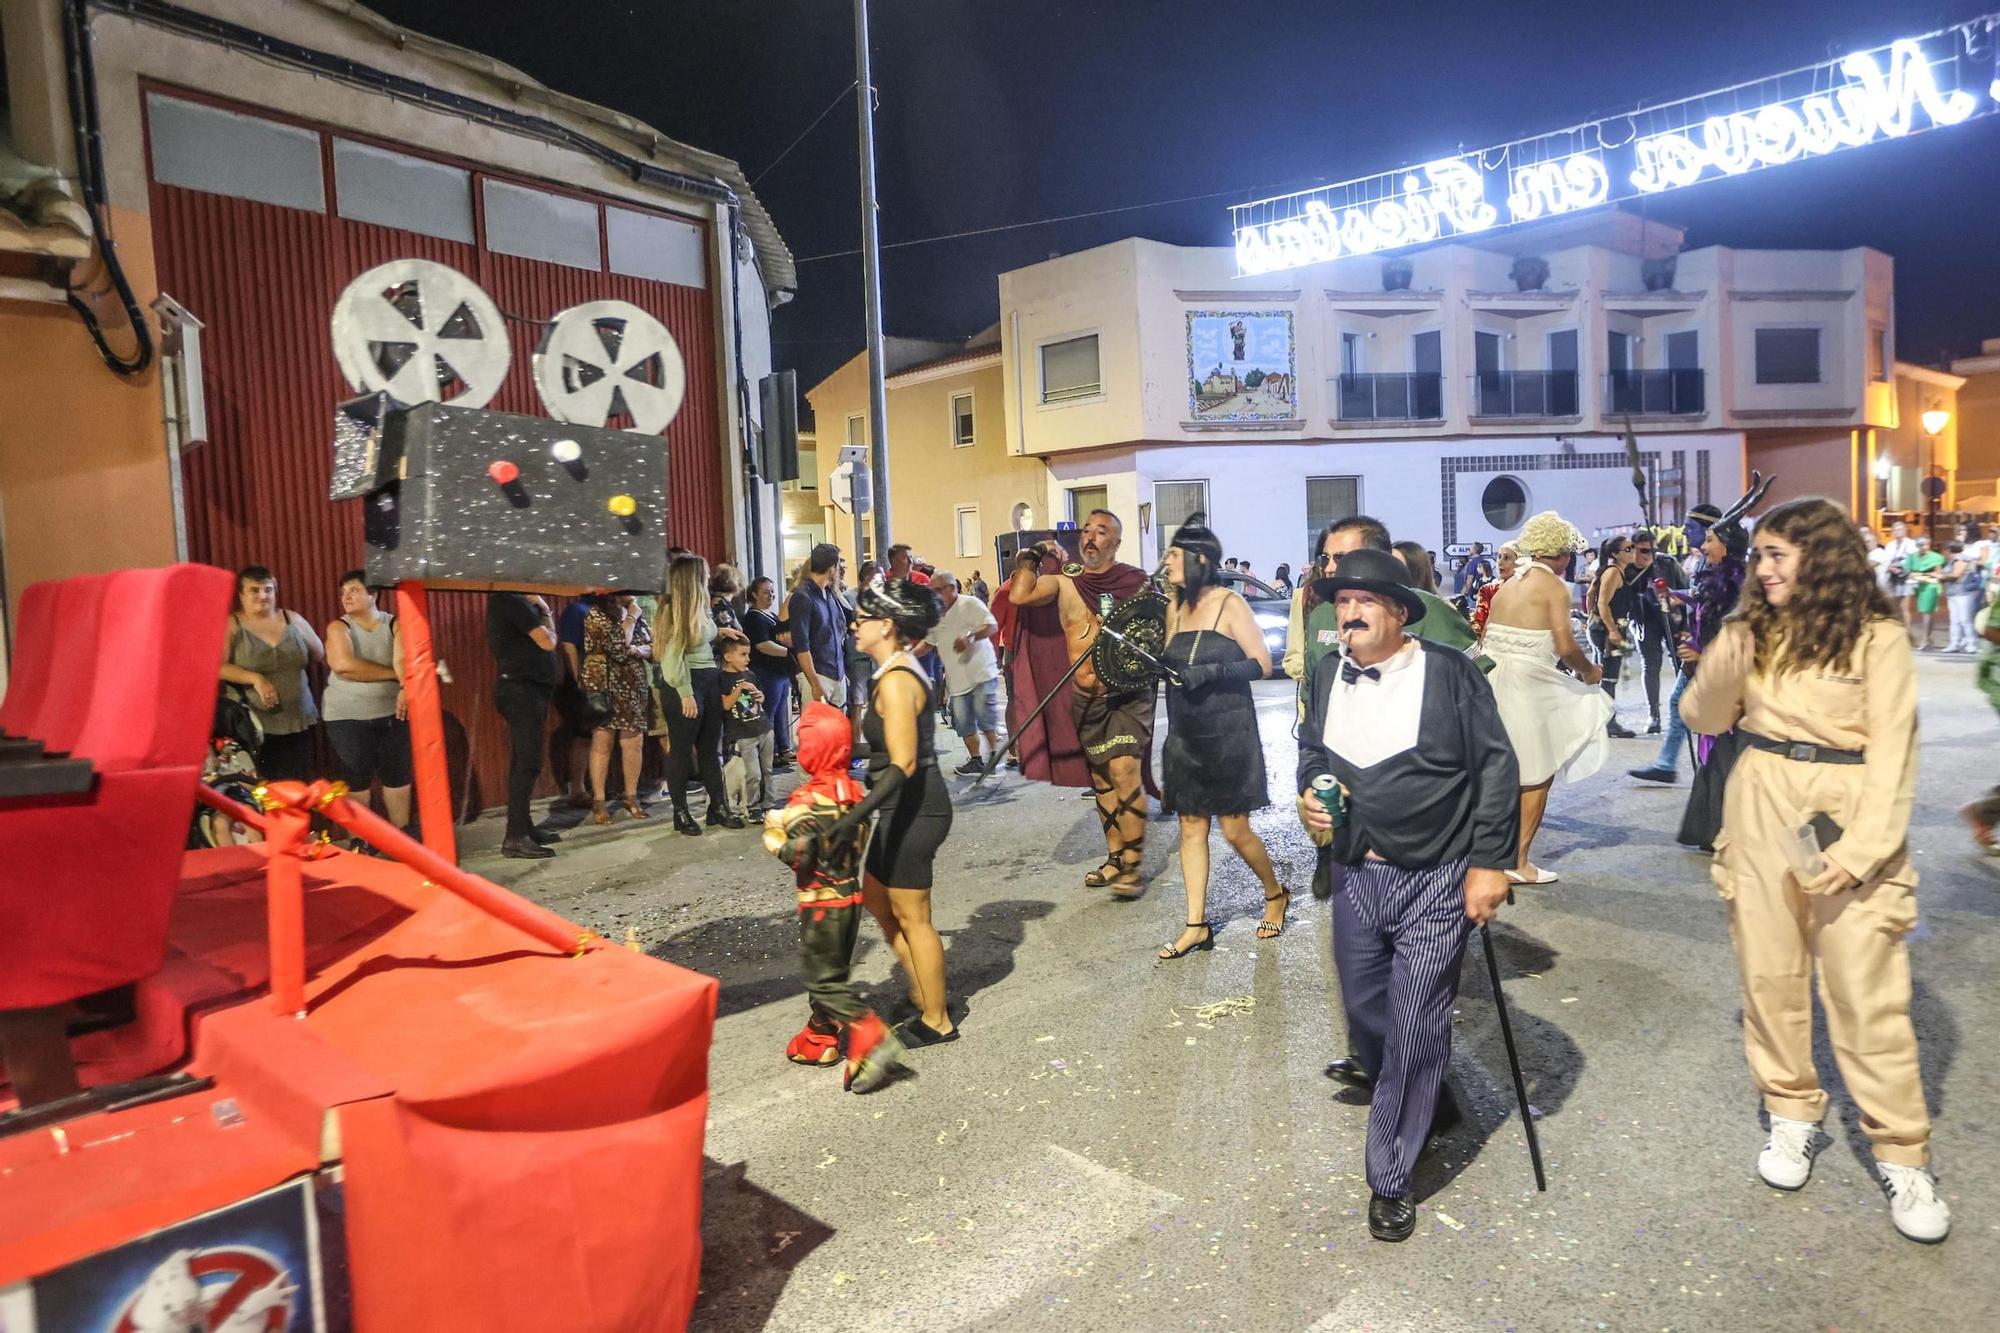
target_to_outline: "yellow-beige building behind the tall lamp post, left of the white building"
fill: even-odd
[[[1000,328],[968,342],[890,338],[884,352],[894,540],[938,568],[994,582],[994,536],[1050,526],[1048,468],[1008,446]],[[834,370],[806,400],[816,472],[800,454],[800,476],[816,474],[822,530],[852,556],[854,516],[834,506],[826,474],[840,464],[842,444],[868,444],[868,358]],[[792,544],[786,534],[788,556]]]

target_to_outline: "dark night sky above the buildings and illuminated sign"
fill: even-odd
[[[1990,2],[1990,0],[1988,0]],[[846,0],[376,0],[742,162],[800,260],[860,238]],[[884,324],[966,336],[1002,270],[1118,240],[1228,244],[1230,202],[1390,170],[1810,64],[1980,0],[874,0]],[[896,242],[1218,194],[966,240]],[[1896,256],[1898,352],[2000,336],[2000,116],[1652,200],[1688,244]],[[804,386],[862,344],[860,260],[800,264],[776,318]]]

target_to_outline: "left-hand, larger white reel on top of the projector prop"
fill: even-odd
[[[390,260],[334,302],[334,358],[356,392],[388,390],[402,406],[486,406],[510,350],[500,308],[472,278],[430,260]]]

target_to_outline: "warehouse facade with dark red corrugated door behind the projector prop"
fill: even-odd
[[[4,586],[260,562],[286,606],[330,620],[334,580],[362,562],[358,502],[326,498],[334,404],[354,392],[330,316],[354,276],[398,258],[444,264],[504,310],[472,332],[508,348],[496,410],[548,414],[534,360],[560,310],[620,300],[658,320],[686,376],[664,426],[666,536],[776,566],[776,486],[744,458],[770,306],[796,276],[732,162],[352,4],[4,4],[10,160],[102,198],[96,216],[44,206],[0,228],[10,244],[22,224],[68,224],[84,254],[0,270]],[[78,164],[90,136],[100,166]],[[108,354],[138,358],[104,236],[158,348],[128,374],[66,306],[80,288]],[[198,340],[174,342],[172,324]],[[432,598],[448,731],[470,759],[462,809],[504,785],[480,612],[474,592]]]

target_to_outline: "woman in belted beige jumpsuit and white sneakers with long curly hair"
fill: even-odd
[[[1812,967],[1840,1075],[1862,1111],[1896,1229],[1942,1241],[1950,1211],[1930,1177],[1930,1117],[1910,1025],[1916,871],[1916,664],[1860,532],[1828,500],[1792,500],[1756,526],[1736,614],[1680,705],[1692,731],[1740,727],[1714,881],[1742,975],[1744,1053],[1770,1143],[1758,1173],[1800,1189],[1822,1143],[1812,1067]],[[1824,857],[1794,871],[1798,831],[1824,815]],[[1788,851],[1786,845],[1792,845]]]

